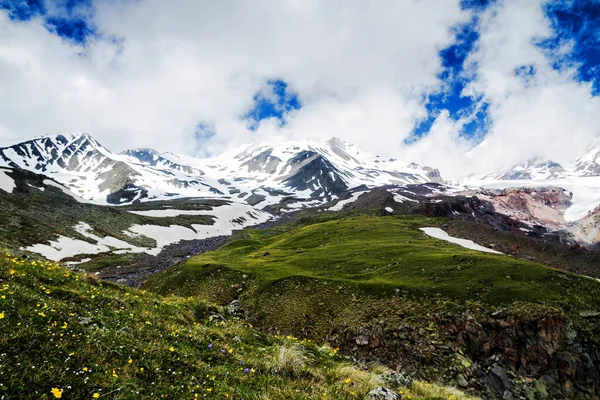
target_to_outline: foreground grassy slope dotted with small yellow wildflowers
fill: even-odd
[[[214,311],[0,251],[0,397],[351,399],[379,385],[331,348]],[[451,395],[467,398],[421,383],[411,398]]]

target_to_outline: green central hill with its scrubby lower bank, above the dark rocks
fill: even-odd
[[[218,251],[153,276],[146,287],[222,303],[239,295],[261,325],[316,339],[334,325],[360,327],[379,316],[426,325],[428,312],[513,307],[564,312],[586,326],[579,312],[600,309],[596,281],[471,251],[418,229],[442,222],[359,215],[247,230]]]

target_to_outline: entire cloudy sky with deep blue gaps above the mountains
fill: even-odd
[[[0,140],[58,132],[568,163],[600,137],[600,0],[0,0]]]

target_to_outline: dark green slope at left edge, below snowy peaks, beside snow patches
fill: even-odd
[[[11,194],[0,190],[0,247],[26,247],[54,240],[59,235],[89,241],[75,231],[74,226],[79,222],[89,224],[93,228],[92,233],[98,236],[113,236],[136,246],[154,247],[154,239],[141,235],[130,237],[123,231],[134,224],[191,228],[192,224],[212,225],[213,220],[207,215],[147,217],[132,214],[129,210],[161,209],[169,205],[187,210],[210,210],[213,206],[225,203],[218,200],[175,199],[150,202],[143,206],[99,206],[79,203],[59,188],[44,185],[47,178],[43,175],[23,170],[11,170],[8,175],[15,181],[16,188]]]

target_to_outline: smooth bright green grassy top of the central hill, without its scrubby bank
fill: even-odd
[[[450,308],[475,301],[489,307],[530,302],[560,307],[573,317],[583,309],[600,308],[600,283],[595,280],[468,250],[419,230],[443,222],[359,215],[246,230],[220,250],[155,275],[146,286],[225,302],[230,299],[219,293],[228,291],[227,283],[243,284],[240,277],[247,275],[253,294],[293,279],[342,285],[374,298],[400,293],[424,302],[452,301]]]

